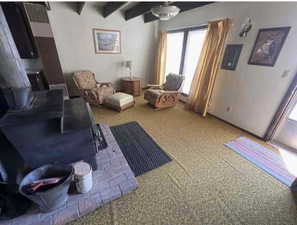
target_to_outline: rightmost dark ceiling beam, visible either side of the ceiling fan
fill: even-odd
[[[185,12],[190,9],[202,7],[211,3],[214,3],[214,2],[172,2],[170,5],[175,5],[178,8],[180,8],[180,12]],[[154,16],[151,12],[144,14],[144,17],[143,17],[143,20],[145,23],[149,23],[157,19],[158,17]]]

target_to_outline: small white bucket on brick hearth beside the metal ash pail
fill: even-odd
[[[73,168],[76,190],[79,193],[89,192],[93,187],[92,168],[86,162],[74,163]]]

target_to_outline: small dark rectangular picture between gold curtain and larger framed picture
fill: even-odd
[[[221,68],[224,70],[236,70],[239,56],[242,50],[242,44],[227,45]]]

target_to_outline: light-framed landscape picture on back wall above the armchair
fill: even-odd
[[[96,54],[120,54],[121,32],[119,30],[93,29]]]

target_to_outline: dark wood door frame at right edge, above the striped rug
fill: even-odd
[[[297,74],[295,75],[292,83],[290,84],[285,96],[283,97],[266,133],[264,136],[265,141],[270,141],[280,125],[281,120],[284,118],[286,111],[291,103],[293,97],[297,94]]]

